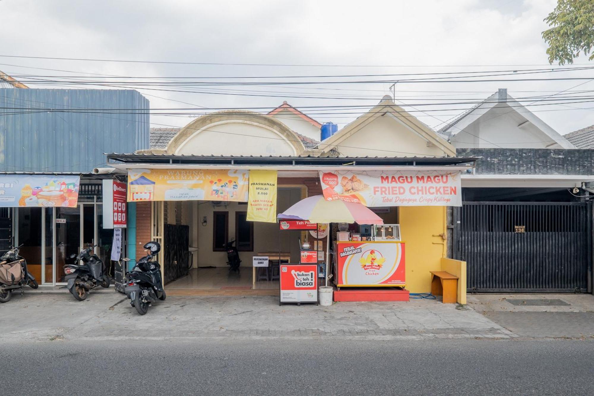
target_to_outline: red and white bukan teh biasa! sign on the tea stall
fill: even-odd
[[[280,302],[317,301],[317,264],[280,264]]]

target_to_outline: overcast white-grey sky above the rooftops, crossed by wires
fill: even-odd
[[[399,78],[552,68],[541,32],[547,28],[543,19],[555,4],[555,0],[0,0],[0,71],[19,78],[59,75],[93,81],[106,81],[100,75],[125,76],[127,82],[132,77],[137,78],[135,82],[170,82],[181,76],[194,78],[188,81],[198,81],[198,77],[215,77],[211,81],[257,77],[232,80],[255,82],[255,86],[153,85],[147,89],[145,85],[138,90],[150,100],[152,109],[195,108],[186,111],[191,114],[153,115],[153,127],[184,126],[205,111],[200,111],[201,107],[267,111],[283,100],[320,122],[343,127],[391,94],[391,81]],[[7,55],[222,64],[91,62]],[[594,62],[582,57],[570,67],[579,65]],[[377,74],[392,76],[287,78]],[[396,101],[438,129],[472,106],[457,102],[482,100],[498,88],[507,88],[515,98],[526,98],[523,104],[534,103],[533,96],[594,90],[594,71],[589,70],[505,78],[549,76],[592,80],[399,82]],[[370,79],[387,82],[344,83]],[[258,84],[265,81],[317,84]],[[328,81],[342,83],[319,84]],[[180,90],[195,92],[173,92]],[[347,105],[356,108],[336,107]],[[328,106],[330,110],[308,110],[308,106]],[[594,124],[592,103],[529,108],[561,134]]]

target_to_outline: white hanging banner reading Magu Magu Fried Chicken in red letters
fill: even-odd
[[[460,172],[320,171],[324,198],[365,206],[462,206]]]

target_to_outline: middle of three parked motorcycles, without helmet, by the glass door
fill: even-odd
[[[95,247],[97,245],[81,250],[78,256],[76,254],[70,256],[75,263],[83,261],[83,264],[66,264],[64,266],[66,288],[78,301],[86,299],[87,292],[97,286],[109,288],[109,276],[105,271],[103,261],[99,256],[91,253]]]

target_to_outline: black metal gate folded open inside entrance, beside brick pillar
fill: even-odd
[[[165,283],[188,274],[189,226],[165,225]]]

